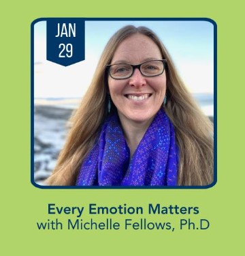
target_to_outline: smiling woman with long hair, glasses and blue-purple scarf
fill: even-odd
[[[50,185],[204,186],[213,128],[146,27],[117,31],[67,137]]]

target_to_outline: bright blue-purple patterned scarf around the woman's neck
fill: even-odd
[[[118,115],[103,124],[85,158],[76,186],[176,186],[178,147],[174,126],[160,110],[130,160]]]

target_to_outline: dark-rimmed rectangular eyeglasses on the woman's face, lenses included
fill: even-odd
[[[106,68],[108,68],[112,79],[129,79],[133,75],[135,68],[138,68],[143,76],[159,76],[163,74],[165,63],[167,63],[166,59],[152,59],[137,65],[116,63],[108,65]]]

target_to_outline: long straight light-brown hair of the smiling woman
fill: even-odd
[[[146,27],[126,26],[118,30],[101,55],[88,91],[76,113],[71,117],[71,130],[52,175],[49,185],[76,184],[76,177],[84,158],[91,151],[99,128],[108,115],[108,75],[105,67],[110,63],[118,45],[135,33],[151,38],[167,59],[167,104],[162,106],[176,130],[180,151],[178,185],[203,186],[213,181],[213,127],[203,115],[191,94],[184,87],[173,61],[157,35]],[[114,107],[114,106],[113,106]]]

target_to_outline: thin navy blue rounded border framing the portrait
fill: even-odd
[[[57,17],[55,17],[57,18]],[[63,18],[63,17],[60,17]],[[67,17],[66,17],[67,18]],[[70,17],[80,18],[80,17]],[[37,188],[72,188],[72,189],[205,189],[217,183],[217,24],[211,18],[81,18],[82,20],[201,20],[214,26],[214,182],[207,186],[40,186],[34,182],[34,25],[50,18],[37,18],[31,23],[31,183]]]

